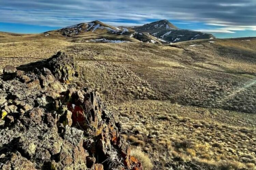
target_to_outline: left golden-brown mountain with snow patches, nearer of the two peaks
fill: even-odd
[[[65,36],[71,42],[144,42],[161,44],[158,38],[148,33],[135,32],[128,27],[114,27],[97,20],[44,33],[45,36],[52,36],[54,34]]]

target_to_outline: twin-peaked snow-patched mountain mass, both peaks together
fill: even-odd
[[[114,27],[96,20],[64,27],[54,31],[48,31],[45,32],[45,35],[52,32],[58,33],[59,35],[63,35],[67,38],[70,37],[72,38],[72,41],[76,41],[76,39],[84,37],[83,40],[79,40],[82,42],[86,42],[91,39],[101,40],[102,38],[109,40],[109,36],[111,36],[111,40],[116,41],[127,40],[133,42],[141,41],[160,44],[215,38],[212,34],[179,29],[168,20],[159,20],[136,27]]]

